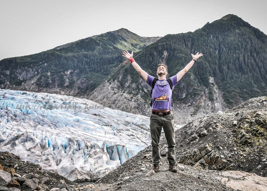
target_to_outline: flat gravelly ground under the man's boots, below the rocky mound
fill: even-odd
[[[162,146],[164,150],[165,145]],[[204,148],[204,147],[203,147]],[[160,171],[152,169],[151,146],[130,158],[122,166],[95,184],[108,190],[265,190],[267,177],[234,170],[203,170],[177,164],[177,173],[168,171],[167,156],[160,160]],[[205,149],[204,149],[205,150]],[[163,152],[165,153],[165,152]]]

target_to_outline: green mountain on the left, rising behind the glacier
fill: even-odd
[[[83,96],[119,63],[123,49],[139,51],[160,37],[141,37],[125,28],[41,53],[0,61],[0,88]]]

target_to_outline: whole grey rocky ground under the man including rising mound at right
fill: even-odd
[[[99,183],[120,190],[266,190],[267,133],[266,97],[249,99],[237,107],[191,121],[176,130],[178,172],[168,171],[166,141],[162,133],[160,172],[151,173],[151,146],[110,172]],[[250,121],[244,130],[250,142],[243,144],[236,130]],[[255,136],[256,122],[261,136]],[[254,129],[254,130],[251,130]],[[254,134],[254,135],[253,135]],[[127,180],[125,180],[127,179]],[[194,182],[194,185],[192,185]]]

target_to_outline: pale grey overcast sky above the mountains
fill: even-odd
[[[267,34],[267,0],[0,0],[0,60],[127,28],[140,36],[194,31],[235,14]]]

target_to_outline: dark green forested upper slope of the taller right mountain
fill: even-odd
[[[226,15],[194,32],[166,35],[134,58],[154,76],[157,64],[163,62],[172,76],[191,60],[191,53],[198,51],[204,56],[177,84],[174,101],[197,105],[206,93],[212,103],[218,91],[224,106],[232,107],[251,97],[267,95],[267,36],[236,15]],[[139,83],[140,76],[130,64],[115,71],[109,80],[117,79],[123,88],[129,75],[131,83]],[[140,88],[136,85],[128,92],[135,94]],[[146,88],[140,93],[149,99]]]

